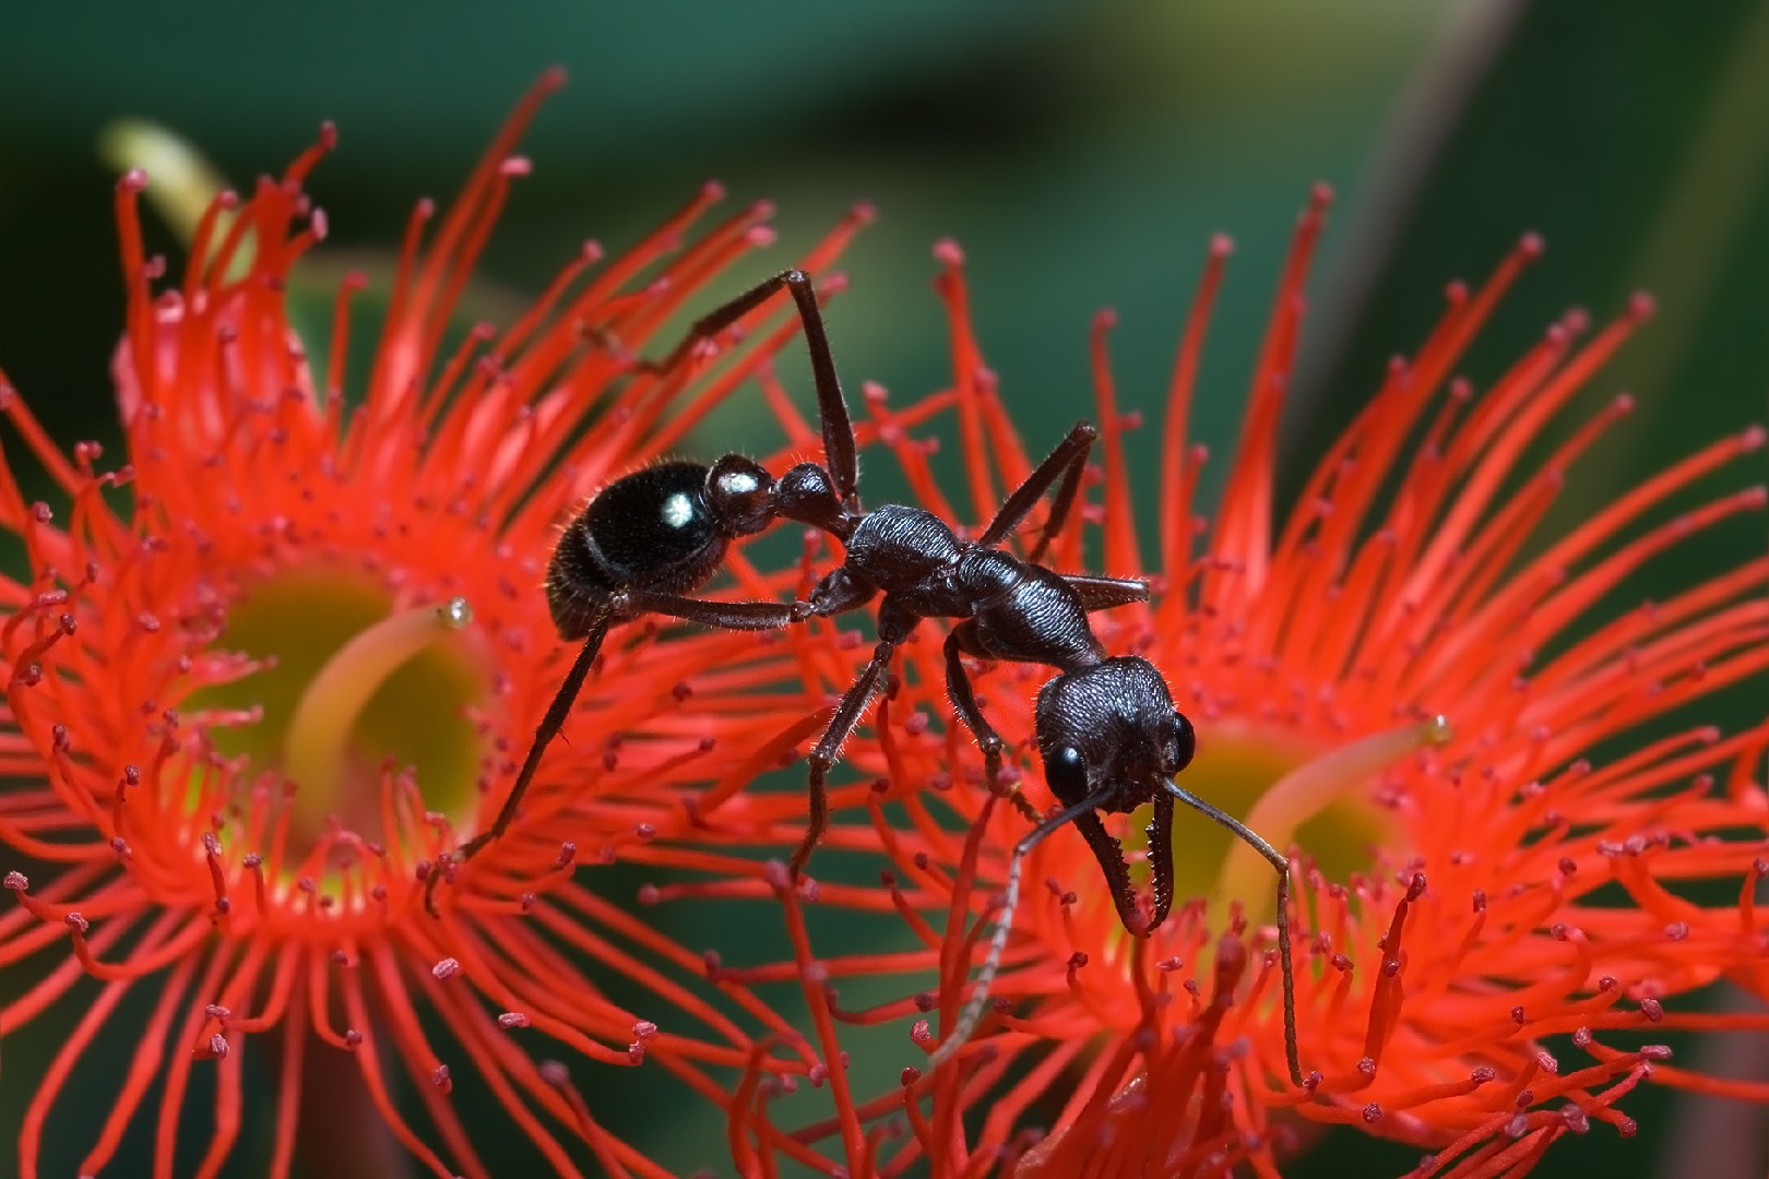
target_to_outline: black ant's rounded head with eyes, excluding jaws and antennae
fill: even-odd
[[[1160,672],[1137,656],[1053,679],[1038,693],[1037,728],[1051,792],[1065,806],[1102,795],[1104,811],[1136,810],[1198,749]]]

